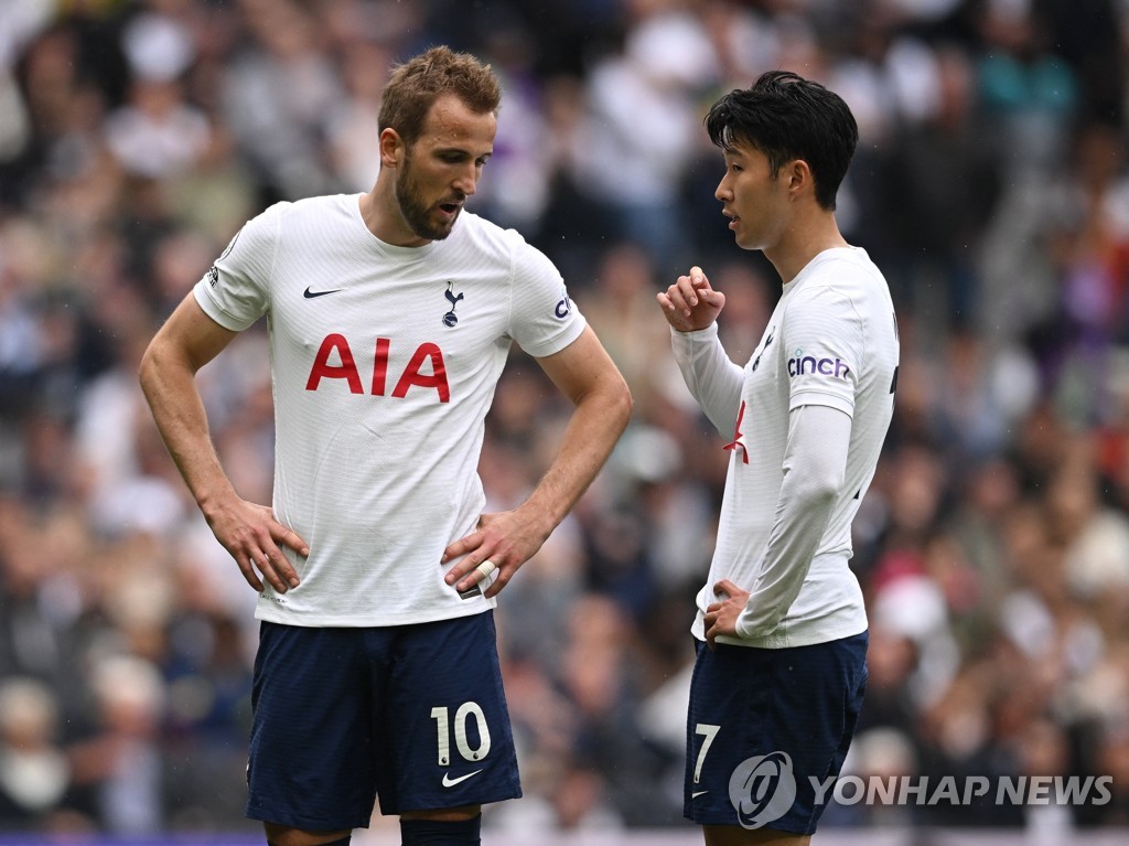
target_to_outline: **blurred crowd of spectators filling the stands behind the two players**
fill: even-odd
[[[434,43],[504,81],[471,210],[557,262],[636,398],[500,598],[526,796],[487,828],[685,825],[689,626],[728,453],[654,297],[700,264],[734,359],[759,341],[780,280],[732,243],[701,120],[778,67],[858,119],[840,224],[900,317],[855,526],[870,686],[847,771],[1113,777],[1101,804],[826,825],[1129,825],[1129,2],[0,0],[0,830],[250,825],[255,595],[137,365],[245,219],[371,186],[388,66]],[[270,502],[263,328],[200,381],[236,488]],[[515,350],[491,509],[567,412]]]

